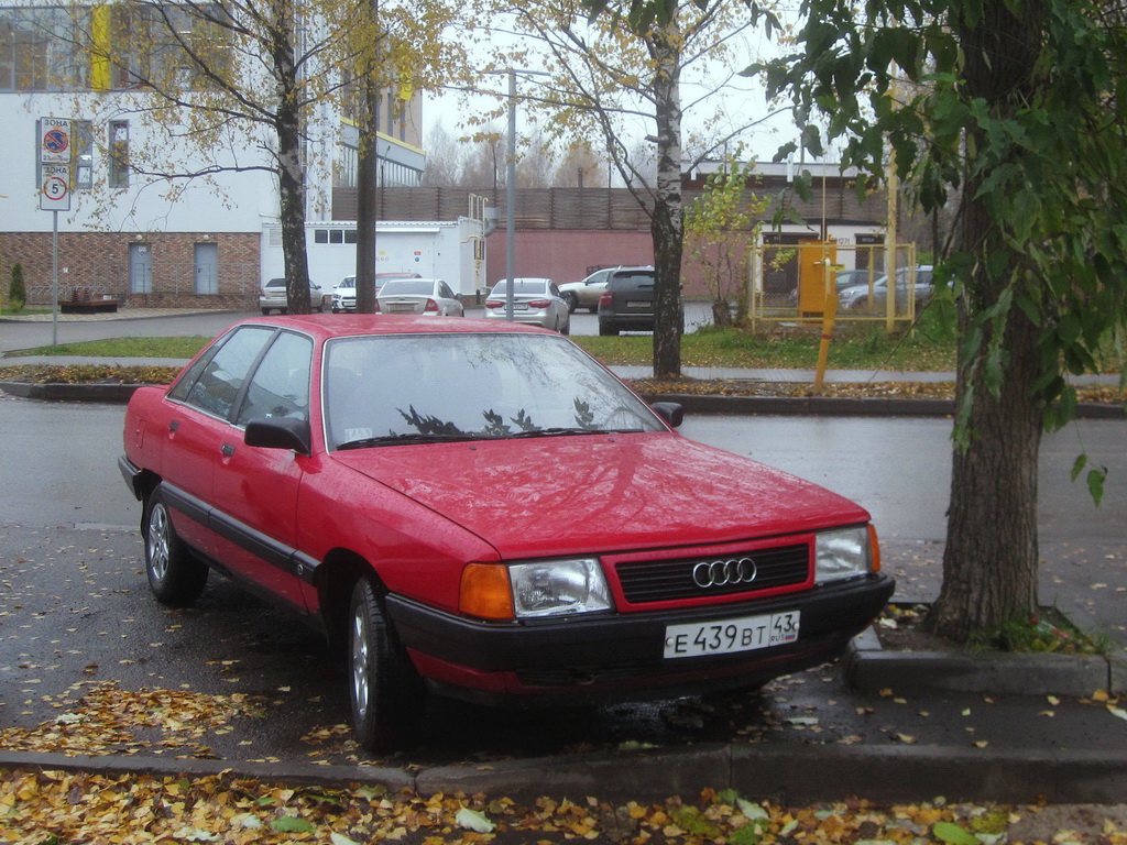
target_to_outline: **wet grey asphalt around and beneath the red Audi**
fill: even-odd
[[[134,691],[238,693],[247,696],[251,714],[236,719],[230,731],[212,731],[187,749],[148,745],[142,753],[370,762],[350,745],[344,727],[343,667],[299,623],[220,578],[187,611],[163,608],[149,595],[134,527],[140,506],[114,465],[121,417],[117,406],[0,399],[6,433],[0,465],[9,480],[0,489],[0,726],[30,728],[74,711],[77,699],[100,682]],[[947,426],[941,420],[862,425],[692,417],[683,432],[806,474],[872,508],[899,594],[921,599],[938,586]],[[1098,513],[1082,488],[1067,480],[1074,441],[1047,442],[1042,487],[1050,513],[1045,514],[1048,562],[1041,594],[1074,604],[1079,615],[1118,620],[1115,633],[1127,644],[1127,620],[1117,615],[1127,593],[1125,434],[1127,424],[1084,424],[1085,447],[1118,479]],[[863,443],[880,444],[879,461],[855,457],[857,444]],[[845,454],[844,444],[854,451]],[[419,745],[393,762],[487,763],[713,739],[1057,744],[1053,719],[1030,723],[1027,711],[1027,704],[1005,696],[860,695],[828,667],[774,682],[762,694],[584,710],[485,709],[436,699]],[[1066,717],[1079,726],[1079,733],[1068,736],[1073,746],[1101,748],[1107,741],[1108,717],[1101,709],[1059,702],[1054,718]]]

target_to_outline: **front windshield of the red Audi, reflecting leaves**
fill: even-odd
[[[330,448],[664,430],[613,375],[552,336],[338,338],[323,374]]]

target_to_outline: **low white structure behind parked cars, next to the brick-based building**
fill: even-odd
[[[417,273],[441,278],[454,293],[485,291],[486,224],[477,217],[455,221],[381,221],[375,224],[375,272]],[[356,275],[355,221],[305,224],[309,276],[322,293],[331,293],[345,276]],[[263,226],[261,281],[285,275],[282,226]]]

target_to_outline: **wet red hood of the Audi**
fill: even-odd
[[[383,446],[334,459],[458,523],[504,559],[869,521],[817,484],[673,433]]]

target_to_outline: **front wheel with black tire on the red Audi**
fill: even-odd
[[[348,678],[353,730],[361,747],[383,751],[408,745],[426,693],[367,578],[356,581],[348,607]]]

